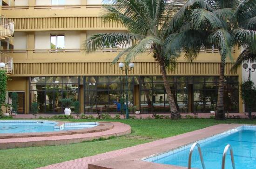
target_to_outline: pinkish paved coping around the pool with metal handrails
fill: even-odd
[[[88,169],[187,169],[187,167],[146,162],[142,161],[142,159],[162,155],[183,146],[193,144],[198,140],[210,138],[243,125],[246,124],[219,124],[178,136],[156,140],[151,143],[141,144],[143,147],[141,149],[124,152],[121,156],[114,158],[88,163]]]

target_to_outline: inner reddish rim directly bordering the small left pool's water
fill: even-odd
[[[12,120],[14,121],[14,120]],[[16,120],[15,120],[16,121]],[[17,121],[24,121],[24,120],[17,120]],[[70,125],[72,123],[77,124],[78,122],[71,122],[71,121],[60,121],[60,120],[30,120],[30,121],[51,121],[56,122],[57,124],[54,126],[61,126],[64,124]],[[92,122],[81,122],[81,123],[92,123]],[[94,122],[95,123],[95,122]],[[71,135],[71,134],[85,134],[85,133],[92,133],[92,132],[100,132],[110,130],[114,127],[113,124],[108,122],[97,122],[99,125],[91,128],[86,129],[77,129],[77,130],[68,130],[68,131],[49,131],[49,132],[27,132],[27,133],[4,133],[0,134],[0,139],[6,138],[31,138],[31,137],[50,137],[50,136],[63,136],[63,135]]]

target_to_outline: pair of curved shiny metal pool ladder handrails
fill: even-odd
[[[204,161],[203,161],[203,157],[202,157],[202,150],[201,150],[201,146],[200,146],[199,143],[194,143],[194,144],[191,146],[191,148],[190,148],[190,151],[189,151],[189,165],[188,165],[188,169],[191,169],[192,153],[193,153],[195,147],[197,147],[197,149],[198,149],[198,151],[199,151],[199,156],[200,156],[200,160],[201,160],[201,163],[202,163],[202,169],[205,169],[205,165],[204,165]],[[233,169],[236,169],[233,149],[232,149],[231,145],[229,145],[229,144],[225,147],[224,152],[223,152],[223,155],[222,155],[222,169],[225,169],[226,154],[227,154],[227,151],[228,151],[228,150],[230,151],[232,167],[233,167]]]

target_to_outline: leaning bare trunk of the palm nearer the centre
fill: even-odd
[[[167,74],[166,74],[166,70],[165,70],[165,65],[163,60],[161,59],[159,61],[160,64],[160,70],[162,73],[162,77],[163,77],[163,84],[167,93],[167,97],[168,97],[168,102],[169,102],[169,108],[170,108],[170,112],[171,112],[171,118],[172,119],[180,119],[181,118],[181,114],[178,112],[177,107],[175,105],[175,101],[174,101],[174,97],[171,91],[171,86],[167,80]]]

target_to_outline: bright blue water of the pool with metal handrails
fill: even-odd
[[[230,144],[234,150],[236,169],[256,169],[256,126],[242,126],[205,140],[200,140],[206,169],[221,169],[222,154]],[[191,145],[148,158],[144,161],[188,167]],[[202,169],[199,153],[195,148],[192,168]],[[230,154],[226,156],[225,169],[232,169]]]

